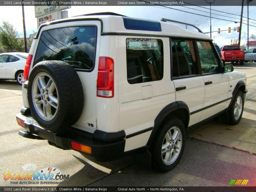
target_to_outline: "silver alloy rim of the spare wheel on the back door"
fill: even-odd
[[[59,107],[59,95],[49,74],[41,72],[34,78],[32,99],[35,110],[43,120],[51,121],[56,116]]]

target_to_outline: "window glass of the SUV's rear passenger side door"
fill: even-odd
[[[171,41],[171,49],[173,58],[173,77],[198,74],[193,41],[174,39]]]

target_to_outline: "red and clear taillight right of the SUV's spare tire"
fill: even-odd
[[[110,57],[99,57],[97,97],[114,97],[114,60]]]

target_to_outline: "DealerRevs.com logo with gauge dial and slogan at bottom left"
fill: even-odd
[[[45,167],[35,173],[10,173],[5,171],[4,180],[10,180],[11,184],[62,184],[61,180],[69,180],[69,175],[62,174],[56,167]]]

